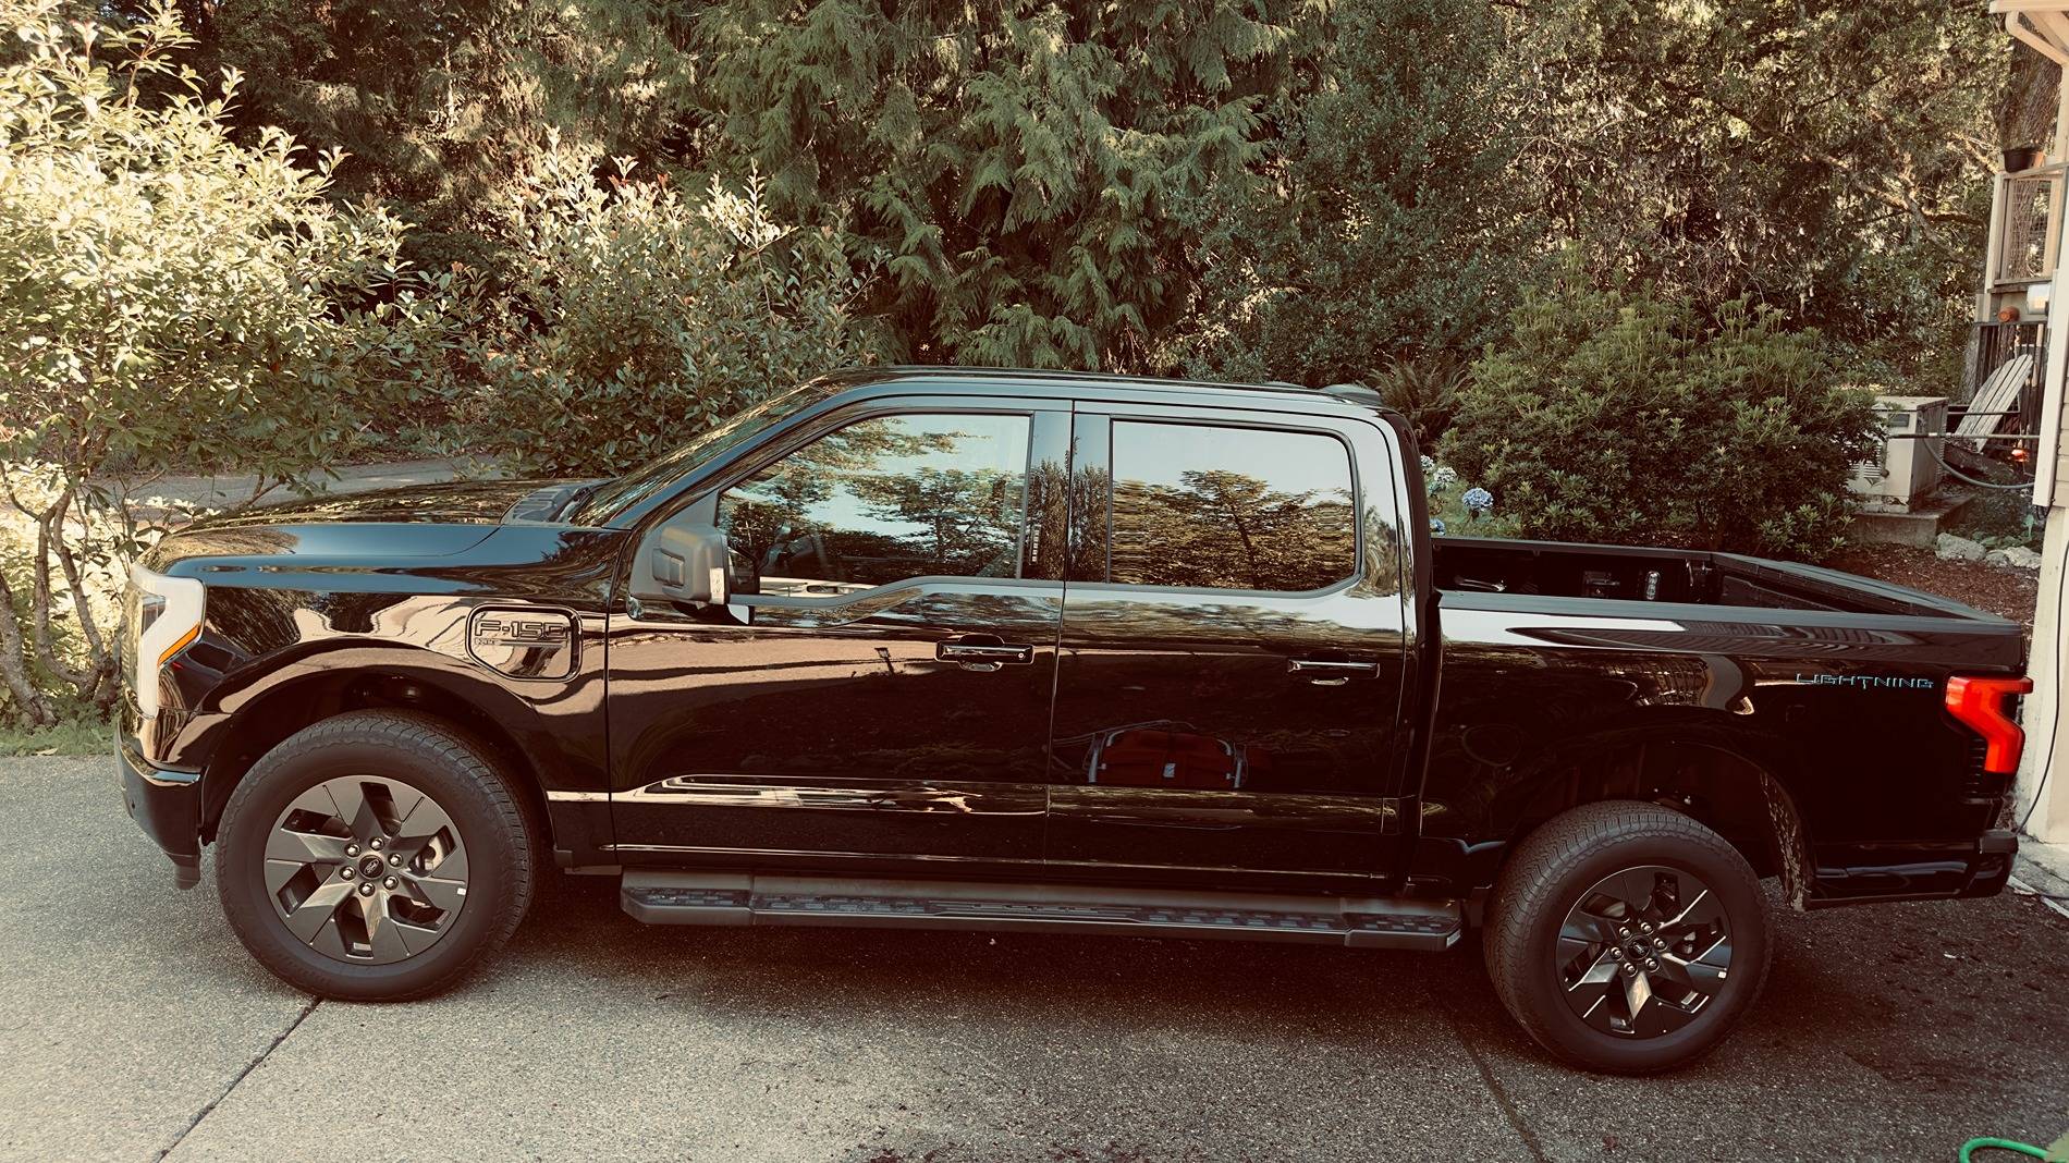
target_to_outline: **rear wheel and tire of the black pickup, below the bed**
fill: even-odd
[[[1589,803],[1531,832],[1496,879],[1483,946],[1517,1024],[1606,1074],[1674,1070],[1715,1049],[1773,954],[1746,857],[1637,801]]]

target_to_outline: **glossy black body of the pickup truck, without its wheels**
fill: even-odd
[[[815,443],[836,430],[848,445]],[[1014,461],[838,501],[811,476],[830,449],[970,433]],[[1355,495],[1179,470],[1231,441],[1299,480],[1341,459]],[[817,488],[834,521],[896,509],[898,546],[968,542],[970,567],[900,575],[888,534],[834,553],[757,480]],[[979,501],[948,511],[964,495],[925,486]],[[726,521],[730,563],[708,555]],[[1270,557],[1268,521],[1322,532]],[[993,526],[1012,544],[985,559]],[[1200,584],[1200,526],[1217,546],[1233,530],[1256,586]],[[1988,681],[2019,677],[2017,625],[1806,565],[1428,526],[1405,426],[1357,391],[844,372],[619,480],[290,503],[168,536],[145,567],[203,582],[205,625],[141,679],[153,718],[124,702],[120,764],[192,884],[261,755],[410,708],[492,749],[559,865],[625,873],[648,919],[747,917],[755,877],[801,898],[929,877],[964,884],[933,900],[993,886],[1001,925],[1006,896],[1101,892],[1072,884],[1157,908],[1388,900],[1407,929],[1450,915],[1444,946],[1519,838],[1595,801],[1672,805],[1802,906],[2005,884],[2017,685]],[[1984,685],[1963,704],[1957,677]],[[929,908],[987,923],[906,921]]]

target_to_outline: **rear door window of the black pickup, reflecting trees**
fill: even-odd
[[[1343,441],[1113,424],[1113,582],[1295,592],[1355,571],[1351,451]]]

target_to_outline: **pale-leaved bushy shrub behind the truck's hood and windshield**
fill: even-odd
[[[786,232],[761,182],[699,199],[548,141],[499,207],[501,288],[461,416],[476,447],[548,476],[612,474],[759,397],[875,358],[832,230]]]

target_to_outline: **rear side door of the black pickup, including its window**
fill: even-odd
[[[1051,863],[1390,867],[1397,455],[1353,418],[1078,406]]]

